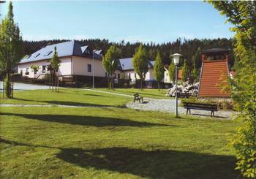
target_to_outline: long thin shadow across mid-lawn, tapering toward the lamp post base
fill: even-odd
[[[0,115],[15,115],[31,120],[39,120],[54,123],[69,123],[82,126],[132,126],[132,127],[147,127],[147,126],[173,126],[161,123],[147,123],[132,121],[124,118],[107,118],[83,115],[37,115],[37,114],[18,114],[18,113],[0,113]]]

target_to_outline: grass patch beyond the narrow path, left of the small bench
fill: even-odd
[[[53,104],[53,105],[93,105],[99,107],[124,107],[132,98],[114,96],[93,91],[74,88],[61,88],[59,93],[50,90],[17,91],[14,99],[2,99],[0,104]]]

